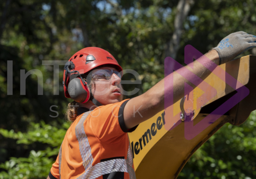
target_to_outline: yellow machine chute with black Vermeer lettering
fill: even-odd
[[[184,120],[179,119],[172,130],[167,130],[165,125],[175,125],[175,122],[166,118],[168,108],[157,113],[154,117],[141,123],[137,129],[129,133],[130,144],[134,154],[134,167],[137,179],[170,179],[177,178],[183,166],[187,163],[191,155],[206,142],[225,123],[233,125],[242,124],[256,109],[254,89],[256,87],[256,56],[248,55],[228,63],[222,64],[221,69],[237,80],[239,85],[245,85],[250,90],[248,96],[225,112],[214,122],[209,122],[209,126],[202,130],[192,139],[186,139],[184,135]],[[220,70],[220,69],[216,69]],[[217,73],[221,73],[215,71]],[[216,94],[206,103],[200,104],[200,96],[204,94],[200,88],[196,87],[190,96],[176,102],[170,108],[173,109],[173,116],[182,114],[183,110],[193,109],[193,125],[202,121],[216,108],[230,99],[237,91],[223,81],[220,77],[211,73],[204,82],[216,89]],[[187,99],[187,100],[186,100]],[[188,100],[189,99],[189,100]],[[199,106],[200,105],[200,106]]]

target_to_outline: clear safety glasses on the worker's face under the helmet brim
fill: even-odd
[[[96,69],[92,71],[92,78],[94,81],[109,81],[112,74],[116,74],[119,78],[122,78],[122,74],[118,70],[112,69]]]

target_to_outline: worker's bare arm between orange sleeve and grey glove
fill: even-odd
[[[214,63],[206,63],[207,60],[205,56]],[[163,110],[164,98],[168,98],[169,100],[169,96],[173,94],[173,103],[180,100],[184,96],[185,82],[195,88],[196,85],[192,83],[195,79],[192,79],[193,77],[191,75],[186,74],[187,72],[193,73],[201,79],[206,78],[211,73],[211,71],[208,69],[213,68],[213,66],[216,66],[216,64],[218,65],[219,56],[216,50],[210,51],[205,56],[198,59],[199,62],[193,62],[193,69],[189,66],[183,67],[165,77],[146,93],[136,98],[130,99],[124,108],[124,121],[127,128],[132,128],[133,126],[154,116],[157,112]],[[206,66],[208,69],[204,67],[200,62],[204,62],[204,66]],[[179,73],[185,73],[185,76],[191,79],[186,79]],[[164,92],[164,84],[166,84],[166,92]],[[134,113],[134,111],[137,109],[139,109],[139,113]]]

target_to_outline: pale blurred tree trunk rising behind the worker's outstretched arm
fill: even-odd
[[[170,56],[176,58],[177,51],[180,48],[180,39],[182,35],[183,22],[186,20],[187,15],[194,5],[194,0],[180,0],[176,9],[176,16],[174,20],[174,33],[172,38],[167,44],[166,57]]]

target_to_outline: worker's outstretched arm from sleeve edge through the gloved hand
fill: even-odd
[[[130,99],[124,107],[123,117],[127,129],[133,128],[137,124],[146,121],[153,117],[157,112],[164,109],[164,95],[168,98],[173,93],[173,104],[184,96],[184,83],[188,83],[195,88],[190,81],[178,74],[184,72],[185,68],[189,68],[196,76],[201,79],[206,78],[211,71],[208,70],[216,66],[216,64],[223,64],[233,60],[237,55],[242,52],[256,47],[256,36],[249,35],[245,32],[236,32],[225,37],[217,47],[211,50],[206,55],[200,57],[197,61],[193,62],[193,69],[186,66],[178,69],[174,73],[166,76],[159,83],[154,85],[144,94]],[[206,62],[205,58],[209,58],[212,62]],[[204,67],[200,62],[204,62]],[[186,70],[186,69],[185,69]],[[169,83],[173,79],[173,85]],[[164,83],[168,85],[167,91],[164,94]],[[137,111],[135,113],[135,111]]]

